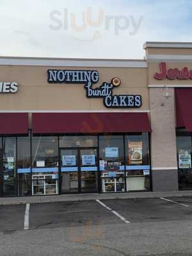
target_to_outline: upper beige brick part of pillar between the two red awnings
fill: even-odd
[[[149,89],[152,169],[159,170],[177,167],[174,88],[168,88],[168,99],[165,92],[164,88]]]

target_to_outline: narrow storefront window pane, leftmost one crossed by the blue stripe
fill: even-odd
[[[17,138],[18,195],[31,195],[30,137]]]

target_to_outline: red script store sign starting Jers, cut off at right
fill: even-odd
[[[159,64],[160,72],[154,74],[154,78],[158,80],[163,80],[165,78],[168,78],[170,80],[175,80],[175,79],[184,79],[184,80],[189,80],[192,79],[192,70],[189,70],[188,67],[182,68],[180,70],[179,68],[166,68],[166,63],[161,62]]]

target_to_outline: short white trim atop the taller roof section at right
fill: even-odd
[[[192,43],[190,42],[146,42],[143,45],[144,49],[147,48],[185,48],[191,49]]]

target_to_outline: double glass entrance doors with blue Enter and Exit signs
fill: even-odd
[[[97,148],[61,148],[61,193],[97,192]]]

